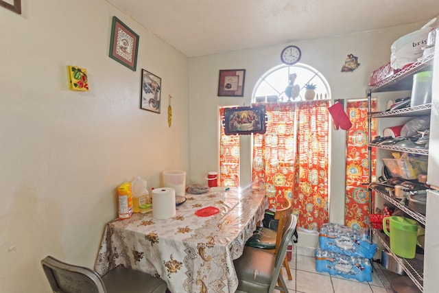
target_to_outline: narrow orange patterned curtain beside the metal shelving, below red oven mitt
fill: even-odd
[[[376,102],[372,101],[372,111]],[[368,166],[368,102],[348,102],[346,113],[353,124],[346,134],[346,200],[344,224],[351,228],[368,228],[369,194]],[[377,135],[377,127],[372,120],[372,137]],[[372,150],[372,174],[375,174],[375,150]]]

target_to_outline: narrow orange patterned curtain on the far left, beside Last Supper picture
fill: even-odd
[[[220,121],[224,120],[224,108],[219,108]],[[239,135],[225,135],[219,126],[219,186],[239,187]]]

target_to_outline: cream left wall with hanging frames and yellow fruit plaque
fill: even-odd
[[[0,8],[0,292],[38,293],[46,255],[93,268],[124,180],[190,175],[189,67],[104,0],[21,5]],[[112,16],[140,35],[135,72],[108,57]],[[87,69],[88,93],[69,91],[67,65]],[[141,69],[162,78],[161,114],[139,108]]]

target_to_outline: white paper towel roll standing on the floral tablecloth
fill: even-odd
[[[176,215],[176,191],[161,187],[152,190],[152,218],[167,219]]]

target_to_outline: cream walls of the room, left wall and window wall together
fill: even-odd
[[[163,170],[184,169],[188,184],[204,183],[217,169],[217,107],[250,104],[254,84],[287,44],[188,61],[104,0],[22,1],[22,8],[21,15],[0,8],[0,288],[38,293],[49,292],[40,267],[46,255],[93,267],[124,180],[139,175],[157,187]],[[112,16],[140,35],[136,72],[108,58]],[[295,44],[333,97],[365,97],[392,41],[420,25]],[[340,73],[351,53],[359,69]],[[88,93],[68,90],[67,65],[88,70]],[[241,68],[245,97],[217,97],[219,69]],[[161,114],[139,109],[141,69],[162,78]],[[333,132],[333,174],[344,173],[342,141],[344,132]],[[247,185],[250,137],[242,144]],[[343,187],[343,176],[331,178],[333,222],[342,222]]]

